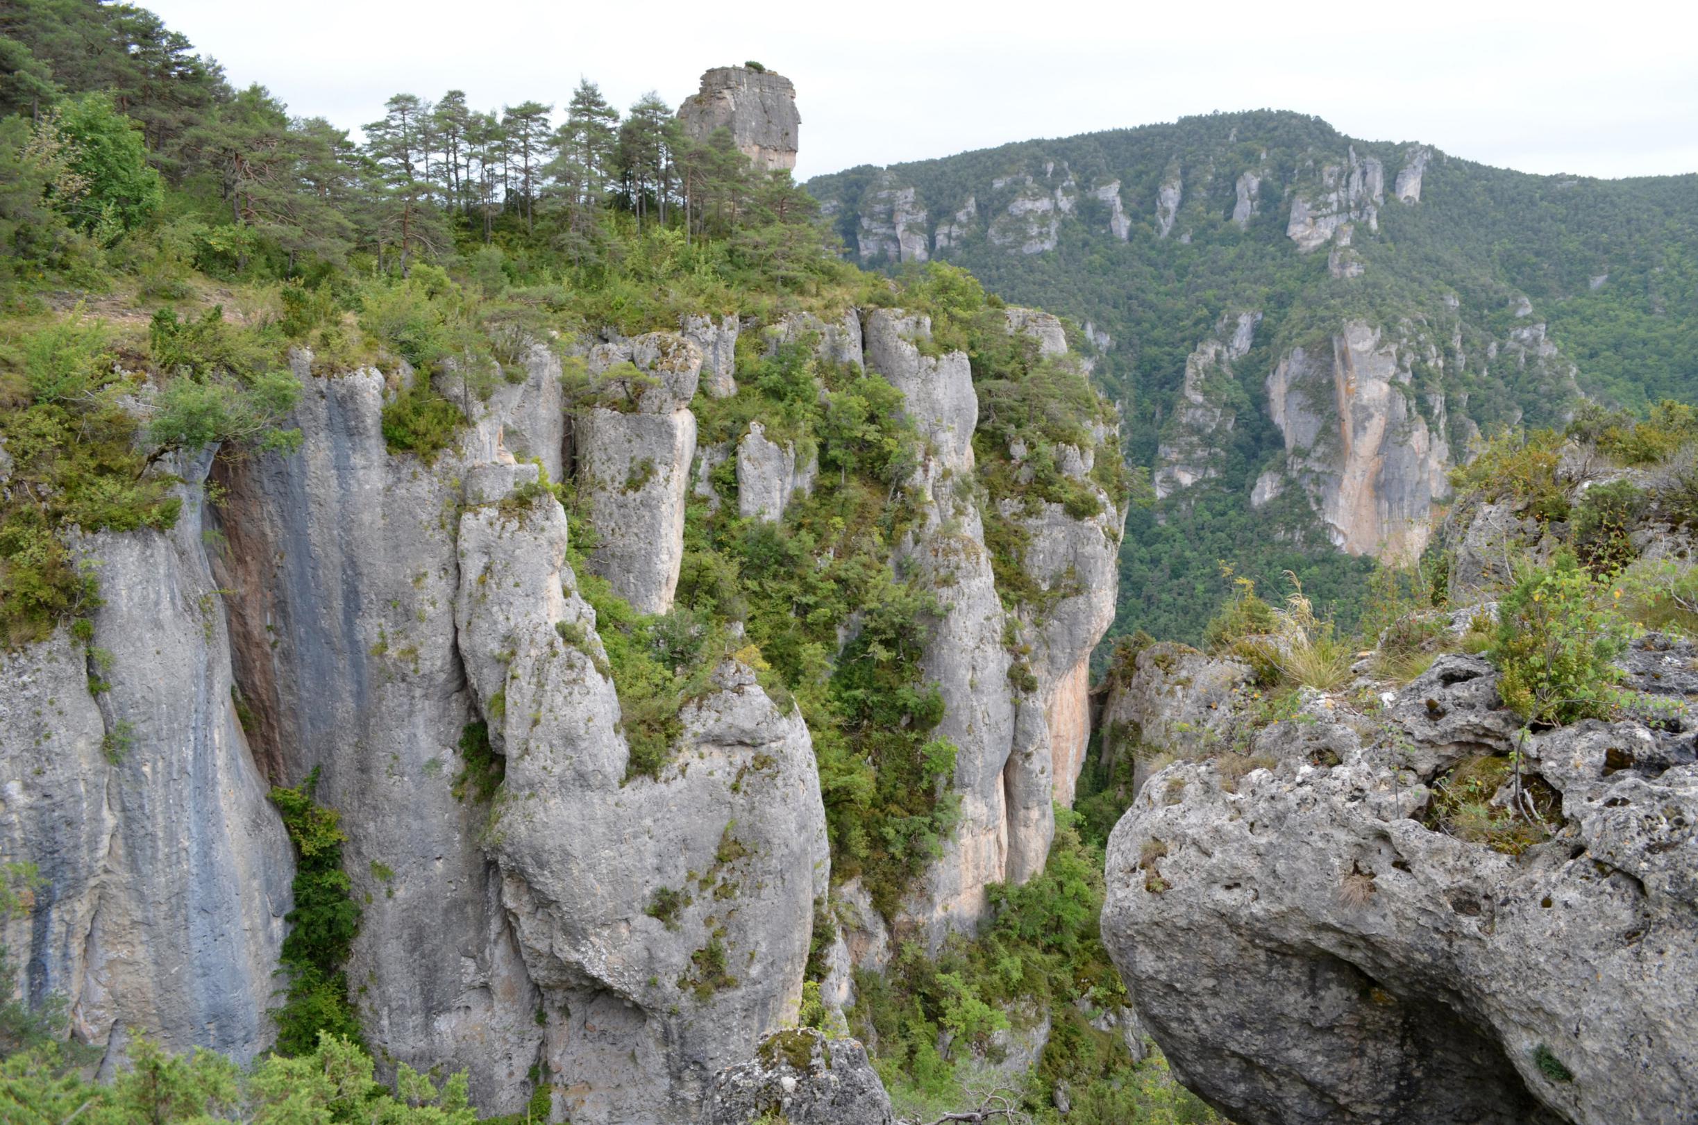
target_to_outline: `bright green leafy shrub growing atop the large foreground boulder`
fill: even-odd
[[[1523,566],[1498,607],[1487,651],[1503,702],[1528,724],[1608,717],[1620,705],[1615,659],[1637,627],[1620,612],[1622,590],[1594,579],[1567,551]]]

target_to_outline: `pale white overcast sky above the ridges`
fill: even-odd
[[[564,107],[579,76],[676,105],[757,59],[796,83],[800,178],[1260,107],[1525,172],[1698,172],[1691,0],[138,2],[343,127],[401,90]]]

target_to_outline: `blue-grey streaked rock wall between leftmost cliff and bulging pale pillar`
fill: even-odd
[[[557,393],[559,369],[537,357],[424,466],[384,445],[379,372],[304,367],[301,450],[224,478],[236,673],[272,775],[318,768],[318,799],[341,812],[363,902],[348,979],[372,1045],[416,1069],[469,1067],[481,1106],[518,1110],[542,1030],[479,846],[487,809],[453,792],[477,719],[455,653],[453,532],[457,478],[501,450],[494,410],[545,427],[520,404]]]

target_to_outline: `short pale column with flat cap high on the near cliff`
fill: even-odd
[[[596,345],[591,376],[633,374],[577,420],[577,478],[596,525],[589,564],[640,613],[664,613],[684,556],[684,496],[696,455],[689,399],[701,348],[674,333]],[[616,382],[620,379],[615,379]]]

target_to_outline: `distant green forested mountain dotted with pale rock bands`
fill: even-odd
[[[1299,464],[1268,386],[1294,350],[1331,350],[1347,323],[1396,342],[1404,396],[1452,462],[1476,433],[1560,423],[1579,394],[1635,413],[1698,396],[1695,175],[1523,175],[1262,110],[856,168],[808,189],[859,260],[946,258],[1090,336],[1129,457],[1165,493],[1127,527],[1117,630],[1197,639],[1224,588],[1217,561],[1263,583],[1294,569],[1355,615],[1365,564],[1335,554],[1328,537],[1343,532],[1319,534],[1328,483],[1304,479],[1318,466],[1336,476],[1338,457]],[[1241,313],[1260,323],[1245,353],[1202,364],[1199,418],[1187,360]],[[1287,481],[1309,496],[1267,496]]]

